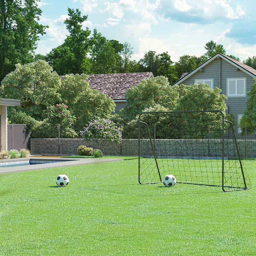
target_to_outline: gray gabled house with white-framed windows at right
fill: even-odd
[[[176,84],[208,84],[211,88],[219,87],[228,99],[226,104],[228,113],[233,113],[237,123],[244,114],[246,101],[249,96],[247,92],[256,78],[256,70],[221,53],[216,53],[209,60],[189,73],[183,73]],[[236,137],[240,136],[241,130],[236,126]],[[248,136],[248,139],[255,139],[255,134]]]

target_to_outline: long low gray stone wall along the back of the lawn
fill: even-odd
[[[154,142],[154,141],[153,141]],[[224,156],[237,157],[233,140],[225,140]],[[245,156],[245,141],[237,140],[240,155]],[[256,140],[246,141],[246,157],[256,158]],[[85,143],[83,139],[60,139],[60,155],[77,155],[80,145],[98,148],[95,141]],[[31,139],[31,154],[58,155],[58,139]],[[152,155],[149,140],[140,140],[141,156]],[[138,156],[138,140],[123,139],[121,144],[106,142],[103,154],[107,156]],[[222,156],[221,140],[156,140],[158,156]]]

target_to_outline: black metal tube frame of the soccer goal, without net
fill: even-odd
[[[243,171],[243,165],[242,165],[242,161],[241,161],[241,156],[240,156],[240,153],[239,153],[239,148],[238,148],[238,144],[237,144],[237,141],[236,141],[236,134],[235,134],[235,130],[234,130],[234,125],[232,122],[228,121],[228,120],[225,120],[224,119],[224,114],[221,110],[194,110],[194,111],[160,111],[160,112],[142,112],[140,113],[139,115],[139,120],[138,120],[138,124],[139,124],[139,134],[138,134],[138,157],[139,157],[139,165],[138,165],[138,169],[139,169],[139,172],[138,172],[138,180],[139,180],[139,184],[156,184],[156,183],[162,183],[162,177],[161,177],[161,173],[159,171],[159,167],[158,167],[158,163],[157,163],[157,158],[156,158],[156,153],[155,153],[155,149],[154,149],[154,146],[153,146],[153,142],[152,142],[152,139],[151,139],[151,136],[150,136],[150,132],[149,132],[149,128],[148,128],[148,124],[145,123],[145,122],[142,122],[140,121],[140,117],[141,115],[143,114],[167,114],[167,113],[193,113],[193,112],[197,112],[197,113],[203,113],[203,112],[219,112],[222,116],[222,135],[221,135],[221,153],[222,153],[222,185],[221,185],[221,188],[224,192],[229,192],[229,191],[239,191],[239,190],[246,190],[246,189],[249,189],[247,188],[247,185],[246,185],[246,180],[245,180],[245,176],[244,176],[244,171]],[[160,181],[158,182],[140,182],[140,124],[146,124],[147,125],[147,129],[148,129],[148,138],[150,140],[150,144],[151,144],[151,148],[152,148],[152,152],[153,152],[153,155],[154,155],[154,158],[155,158],[155,162],[156,162],[156,168],[157,168],[157,171],[158,171],[158,175],[159,175],[159,179]],[[240,187],[228,187],[228,186],[224,186],[224,124],[225,123],[228,123],[230,124],[230,127],[231,127],[231,130],[232,130],[232,133],[233,133],[233,136],[234,136],[234,142],[235,142],[235,145],[236,145],[236,152],[237,152],[237,155],[238,155],[238,159],[239,159],[239,164],[240,164],[240,168],[241,168],[241,172],[242,172],[242,175],[243,175],[243,180],[244,180],[244,188],[240,188]],[[204,186],[212,186],[212,187],[220,187],[219,185],[207,185],[207,184],[199,184],[199,183],[189,183],[189,182],[177,182],[177,183],[185,183],[185,184],[194,184],[194,185],[204,185]],[[233,189],[225,189],[225,188],[233,188]]]

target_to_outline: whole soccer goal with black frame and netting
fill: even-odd
[[[219,110],[143,112],[138,139],[140,184],[172,174],[177,183],[225,192],[250,186],[233,124]]]

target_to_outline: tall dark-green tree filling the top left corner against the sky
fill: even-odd
[[[0,2],[0,81],[17,63],[29,63],[39,34],[48,26],[40,25],[36,0],[2,0]]]

